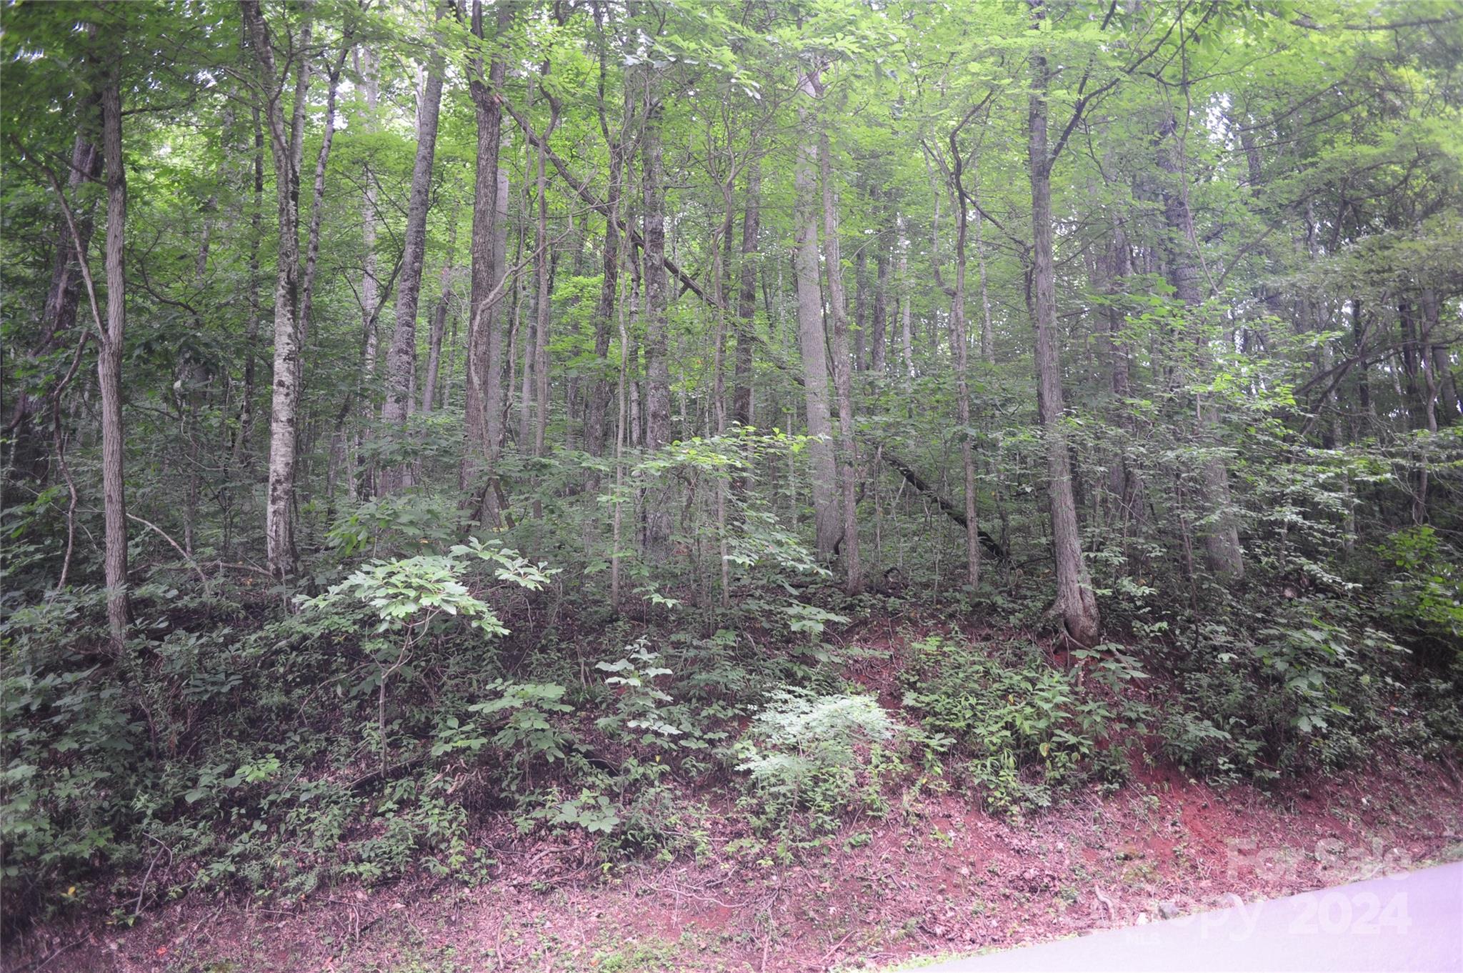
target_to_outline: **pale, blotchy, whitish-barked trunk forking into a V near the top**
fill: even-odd
[[[265,544],[269,571],[285,578],[294,571],[294,467],[300,405],[300,332],[296,318],[300,296],[300,154],[303,151],[304,99],[309,61],[300,59],[296,75],[296,105],[290,129],[284,119],[284,86],[275,70],[269,28],[259,0],[240,0],[255,57],[259,59],[266,98],[265,120],[275,165],[279,211],[279,256],[275,275],[274,395],[269,408],[269,492],[265,505]],[[296,50],[307,50],[310,22],[300,28]]]

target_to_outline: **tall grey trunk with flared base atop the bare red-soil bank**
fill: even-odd
[[[1039,23],[1043,0],[1028,0]],[[1031,284],[1036,325],[1036,398],[1046,440],[1048,502],[1052,515],[1052,553],[1056,560],[1056,613],[1067,634],[1081,645],[1094,645],[1102,632],[1091,576],[1083,560],[1072,497],[1071,458],[1062,429],[1062,361],[1056,337],[1056,277],[1052,256],[1052,159],[1046,140],[1046,57],[1031,53],[1031,97],[1027,111],[1027,162],[1031,181]]]

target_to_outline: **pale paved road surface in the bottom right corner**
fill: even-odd
[[[1460,973],[1463,862],[923,970]]]

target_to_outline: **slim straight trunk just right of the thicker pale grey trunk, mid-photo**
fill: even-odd
[[[853,369],[849,358],[849,310],[843,288],[843,252],[838,237],[838,205],[832,192],[832,146],[828,129],[818,139],[818,170],[822,179],[824,263],[828,268],[828,303],[832,309],[832,385],[838,397],[838,487],[843,492],[844,590],[863,591],[859,563],[859,457],[853,437]]]

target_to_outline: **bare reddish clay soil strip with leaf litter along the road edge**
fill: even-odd
[[[712,850],[701,863],[609,871],[587,844],[509,846],[505,830],[514,850],[484,885],[336,887],[290,907],[190,895],[130,929],[32,932],[6,947],[3,969],[857,970],[1463,857],[1463,794],[1437,765],[1388,761],[1280,796],[1162,767],[1134,774],[1021,821],[907,796],[796,863],[721,841],[715,821],[702,822]]]

